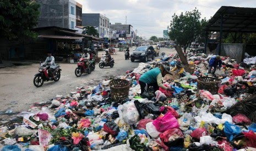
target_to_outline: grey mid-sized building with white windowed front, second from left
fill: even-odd
[[[83,13],[82,26],[94,26],[102,38],[110,33],[110,19],[99,13]]]

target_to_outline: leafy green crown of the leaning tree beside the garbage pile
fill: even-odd
[[[201,31],[200,13],[195,8],[192,11],[186,11],[181,15],[174,14],[172,16],[169,37],[174,40],[176,44],[183,46],[184,52],[188,45],[197,39]]]

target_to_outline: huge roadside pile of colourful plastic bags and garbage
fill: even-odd
[[[111,98],[110,80],[78,87],[66,96],[35,103],[0,127],[1,150],[255,150],[256,69],[221,57],[217,94],[199,90],[212,55],[186,54],[193,74],[164,84],[173,91],[140,94],[139,78],[160,63],[175,67],[177,55],[139,63],[118,79],[131,84],[129,96]]]

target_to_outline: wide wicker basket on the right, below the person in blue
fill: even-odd
[[[199,90],[207,90],[211,94],[217,94],[221,80],[213,77],[199,77],[197,79],[197,88]]]

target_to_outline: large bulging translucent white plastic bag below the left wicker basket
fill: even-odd
[[[133,125],[133,124],[137,123],[137,121],[139,120],[139,112],[138,112],[134,102],[124,103],[123,109],[122,109],[122,114],[123,114],[124,122],[129,125]],[[121,116],[121,115],[119,114],[119,116]]]

